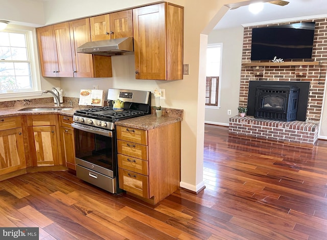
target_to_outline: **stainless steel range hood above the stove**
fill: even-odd
[[[89,41],[76,49],[78,53],[113,56],[133,52],[133,38],[123,37],[101,41]]]

